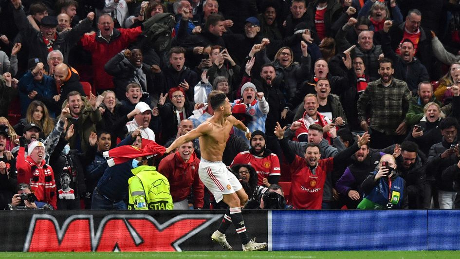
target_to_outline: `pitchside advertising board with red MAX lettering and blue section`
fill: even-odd
[[[220,251],[224,211],[0,211],[0,251]],[[271,251],[460,250],[460,210],[243,211]],[[241,242],[234,227],[227,240]]]

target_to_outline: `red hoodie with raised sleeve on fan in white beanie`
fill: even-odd
[[[16,158],[18,183],[30,185],[30,190],[37,197],[37,201],[48,203],[57,209],[55,174],[51,166],[42,160],[37,165],[30,156],[24,158],[25,148],[20,147]]]

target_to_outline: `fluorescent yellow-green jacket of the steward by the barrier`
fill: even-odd
[[[168,179],[155,166],[138,166],[128,179],[128,209],[173,209]]]

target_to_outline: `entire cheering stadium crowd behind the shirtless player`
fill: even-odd
[[[460,208],[459,0],[0,0],[0,207]],[[227,186],[229,187],[229,186]]]

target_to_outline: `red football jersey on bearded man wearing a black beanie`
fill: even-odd
[[[274,153],[266,157],[261,157],[255,156],[249,153],[249,151],[239,152],[233,159],[232,166],[236,164],[249,164],[254,167],[258,176],[258,185],[262,185],[263,179],[268,178],[270,175],[281,175],[279,159]]]

